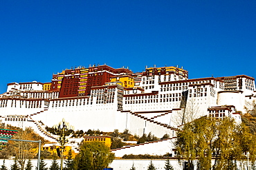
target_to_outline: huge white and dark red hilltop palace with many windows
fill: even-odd
[[[182,67],[146,67],[134,73],[93,65],[53,74],[48,83],[9,83],[0,95],[0,113],[2,123],[33,127],[48,140],[44,127],[62,118],[84,131],[169,134],[168,140],[113,150],[116,156],[138,151],[160,155],[172,149],[180,125],[201,116],[229,116],[239,123],[255,102],[255,78],[246,75],[189,79]]]

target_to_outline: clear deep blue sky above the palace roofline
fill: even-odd
[[[255,0],[0,1],[0,94],[65,68],[183,66],[256,78]]]

